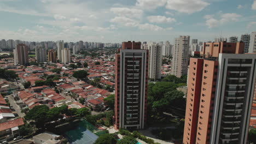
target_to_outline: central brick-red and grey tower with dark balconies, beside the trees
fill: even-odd
[[[115,54],[116,129],[143,129],[147,117],[148,50],[141,42],[124,42]]]

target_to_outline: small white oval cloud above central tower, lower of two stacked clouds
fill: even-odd
[[[117,16],[110,20],[110,22],[118,23],[119,25],[124,25],[126,27],[136,27],[138,26],[138,22],[136,20],[132,20],[128,17]]]

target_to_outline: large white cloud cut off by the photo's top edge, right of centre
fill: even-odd
[[[167,0],[166,8],[177,10],[181,13],[191,14],[201,11],[209,4],[210,3],[202,0]]]

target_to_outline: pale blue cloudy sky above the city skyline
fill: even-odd
[[[213,41],[256,31],[256,0],[0,0],[0,39]]]

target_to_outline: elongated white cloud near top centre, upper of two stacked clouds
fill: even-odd
[[[143,11],[141,9],[111,8],[110,11],[112,11],[114,14],[118,14],[119,16],[126,16],[130,18],[139,18],[143,14]]]

